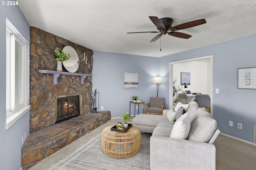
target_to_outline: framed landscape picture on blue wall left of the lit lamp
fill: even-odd
[[[124,88],[139,88],[138,72],[124,72]]]

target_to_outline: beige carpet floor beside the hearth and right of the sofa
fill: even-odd
[[[76,149],[90,138],[100,133],[105,127],[113,125],[121,119],[111,119],[104,125],[80,137],[70,145],[58,150],[48,158],[41,160],[30,170],[42,170]],[[250,145],[224,135],[219,135],[214,145],[216,146],[216,170],[256,170],[256,146]]]

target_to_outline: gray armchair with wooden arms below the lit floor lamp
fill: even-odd
[[[150,101],[146,104],[146,114],[163,115],[164,98],[150,97]]]

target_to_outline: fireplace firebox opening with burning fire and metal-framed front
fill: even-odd
[[[56,96],[55,123],[80,115],[80,95]]]

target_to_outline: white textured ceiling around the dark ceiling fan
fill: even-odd
[[[32,27],[92,49],[162,57],[256,33],[256,0],[18,0]],[[180,30],[181,39],[163,35],[148,16],[174,19],[172,26],[205,18],[207,23]]]

